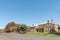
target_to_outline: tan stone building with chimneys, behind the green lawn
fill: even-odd
[[[55,24],[53,20],[32,27],[35,32],[60,32],[60,26]],[[32,30],[31,28],[31,30]]]

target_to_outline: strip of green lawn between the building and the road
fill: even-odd
[[[47,33],[47,32],[27,32],[27,34],[29,35],[35,35],[35,36],[50,36],[50,37],[60,37],[59,35],[56,35],[56,34],[50,34],[50,33]]]

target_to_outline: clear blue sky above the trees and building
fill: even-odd
[[[60,0],[0,0],[0,29],[12,21],[32,25],[51,19],[60,24]]]

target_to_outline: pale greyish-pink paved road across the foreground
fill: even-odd
[[[60,40],[56,37],[32,36],[27,34],[1,33],[0,40]]]

